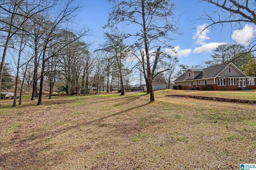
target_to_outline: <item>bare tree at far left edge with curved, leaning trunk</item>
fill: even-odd
[[[0,91],[2,84],[2,71],[4,68],[4,62],[6,58],[6,51],[9,47],[9,43],[12,37],[14,37],[14,35],[16,35],[20,30],[28,33],[28,31],[22,29],[24,28],[22,26],[26,23],[26,21],[34,20],[33,17],[36,14],[44,12],[46,9],[52,8],[53,6],[54,4],[49,2],[44,3],[41,0],[39,0],[38,3],[36,3],[35,1],[28,2],[21,0],[7,0],[2,1],[2,3],[0,4],[0,31],[8,33],[4,45],[1,45],[2,47],[4,47],[4,50],[2,55],[2,61],[0,64]],[[20,16],[22,16],[24,20],[19,22],[17,18]]]

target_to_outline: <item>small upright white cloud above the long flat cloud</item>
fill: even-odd
[[[196,33],[194,34],[194,36],[193,36],[193,39],[194,40],[196,40],[196,43],[197,44],[200,44],[200,45],[204,45],[204,44],[206,44],[204,41],[206,40],[206,39],[210,39],[210,37],[207,37],[207,33],[209,33],[210,32],[210,30],[208,29],[208,28],[206,28],[205,30],[204,30],[204,28],[207,26],[207,24],[205,23],[205,24],[203,24],[203,25],[198,25],[197,27],[196,27]],[[204,31],[203,31],[204,30]],[[202,32],[203,31],[203,32]]]

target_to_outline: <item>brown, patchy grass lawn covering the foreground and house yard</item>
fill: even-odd
[[[156,91],[46,97],[0,107],[0,169],[238,169],[256,162],[256,105],[169,98],[256,93]],[[246,97],[247,96],[247,97]],[[233,98],[233,97],[232,97]]]

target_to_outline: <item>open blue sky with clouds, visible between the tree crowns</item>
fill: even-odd
[[[111,12],[112,2],[107,0],[84,0],[79,1],[80,5],[84,6],[80,8],[77,18],[79,27],[89,26],[93,29],[94,36],[85,41],[94,41],[94,48],[98,47],[98,44],[104,42],[103,32],[107,31],[102,26],[107,23],[108,12]],[[232,38],[233,30],[228,25],[224,29],[208,29],[204,35],[198,38],[196,34],[197,27],[203,27],[207,24],[204,20],[195,21],[199,19],[204,11],[210,12],[215,7],[206,2],[199,2],[198,0],[175,0],[176,10],[174,14],[179,19],[179,31],[182,35],[174,35],[170,33],[170,37],[175,40],[169,42],[170,45],[175,46],[178,54],[172,53],[170,50],[165,51],[171,55],[179,57],[180,64],[187,64],[189,66],[200,64],[204,65],[204,61],[210,59],[213,49],[223,43],[242,43],[241,35],[237,38]],[[255,33],[256,29],[252,25],[247,25],[249,31]],[[251,26],[251,27],[250,27]],[[136,27],[118,27],[121,31],[136,31]],[[134,29],[134,30],[132,30]],[[247,29],[244,30],[246,33]],[[250,32],[251,34],[251,32]],[[234,35],[233,35],[234,36]],[[248,35],[250,37],[250,35]],[[133,42],[127,41],[128,45]]]

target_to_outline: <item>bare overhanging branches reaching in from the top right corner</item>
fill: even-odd
[[[225,24],[229,24],[231,29],[241,30],[246,23],[256,24],[256,1],[253,0],[201,0],[202,2],[207,2],[216,7],[212,12],[205,12],[204,15],[201,16],[200,20],[208,21],[208,25],[204,27],[201,33],[208,29],[214,29],[214,26],[220,25],[221,29]],[[200,36],[200,34],[198,35]],[[256,51],[256,37],[252,37],[248,39],[248,49],[231,59],[228,62],[238,61],[242,57],[246,56],[246,54]],[[225,62],[225,63],[228,63]],[[224,64],[225,64],[224,63]]]

